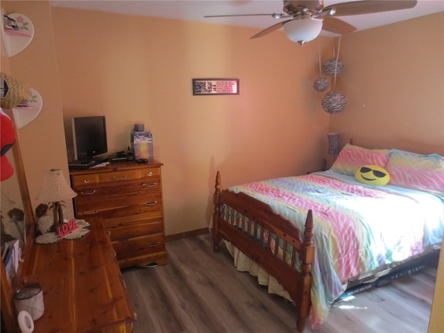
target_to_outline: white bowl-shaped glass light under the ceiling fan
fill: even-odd
[[[289,40],[303,45],[318,37],[322,30],[322,20],[309,16],[295,18],[284,24],[284,31]]]

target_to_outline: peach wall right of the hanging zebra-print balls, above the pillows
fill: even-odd
[[[330,130],[356,144],[444,155],[444,12],[344,35]]]

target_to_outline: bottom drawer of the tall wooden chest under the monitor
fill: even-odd
[[[165,242],[164,235],[159,233],[112,241],[112,246],[120,260],[160,252],[165,249]]]

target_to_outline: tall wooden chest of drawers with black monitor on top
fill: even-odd
[[[103,219],[121,268],[167,264],[161,167],[115,162],[69,172],[76,218]]]

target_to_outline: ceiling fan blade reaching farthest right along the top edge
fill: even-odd
[[[416,0],[363,0],[336,3],[324,7],[322,12],[334,10],[334,16],[371,14],[373,12],[388,12],[391,10],[409,9],[416,6]]]

